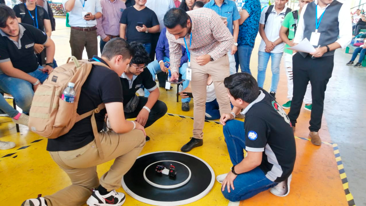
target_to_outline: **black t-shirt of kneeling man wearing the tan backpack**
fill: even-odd
[[[102,63],[108,65],[101,58],[94,56]],[[94,61],[91,59],[90,61]],[[83,84],[79,96],[78,114],[91,111],[101,103],[123,102],[122,87],[116,72],[104,66],[93,65],[91,72]],[[95,114],[98,131],[103,129],[106,109]],[[48,139],[47,150],[69,151],[82,148],[94,140],[91,127],[91,115],[76,122],[71,130],[56,139]]]

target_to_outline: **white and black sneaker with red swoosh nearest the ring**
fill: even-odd
[[[93,194],[86,204],[89,206],[121,206],[124,201],[126,201],[126,196],[122,192],[112,190],[106,195],[101,195],[98,190],[93,190]]]

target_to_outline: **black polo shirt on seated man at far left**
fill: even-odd
[[[23,34],[22,34],[23,33]],[[47,35],[34,26],[19,23],[20,48],[7,36],[0,38],[0,62],[11,61],[14,68],[23,72],[33,72],[38,68],[38,59],[34,54],[34,44],[45,44]]]

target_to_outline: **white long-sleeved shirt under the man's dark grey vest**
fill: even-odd
[[[318,5],[318,0],[315,0],[314,3],[317,5],[317,9],[318,9],[317,18],[319,19],[320,16],[325,11],[325,9],[327,7],[329,7],[330,4],[326,5],[326,7],[324,7],[324,8],[320,8],[320,6]],[[300,19],[299,19],[299,24],[298,24],[295,38],[294,38],[294,43],[300,43],[304,38],[304,29],[305,29],[304,13],[306,11],[307,5],[308,4],[306,4],[302,8]],[[348,46],[348,44],[350,44],[352,41],[352,21],[351,21],[351,16],[350,16],[349,12],[350,12],[350,8],[347,8],[347,5],[343,4],[338,13],[339,39],[336,42],[339,43],[339,45],[341,45],[341,47],[343,49],[346,48]]]

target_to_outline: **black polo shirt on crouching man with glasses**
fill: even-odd
[[[143,85],[148,91],[152,91],[157,88],[156,82],[153,80],[153,76],[147,68],[145,68],[138,76],[132,76],[132,81],[127,79],[126,73],[122,74],[120,80],[123,89],[123,105],[126,105],[132,97],[136,95],[136,91],[141,87],[141,85]]]

